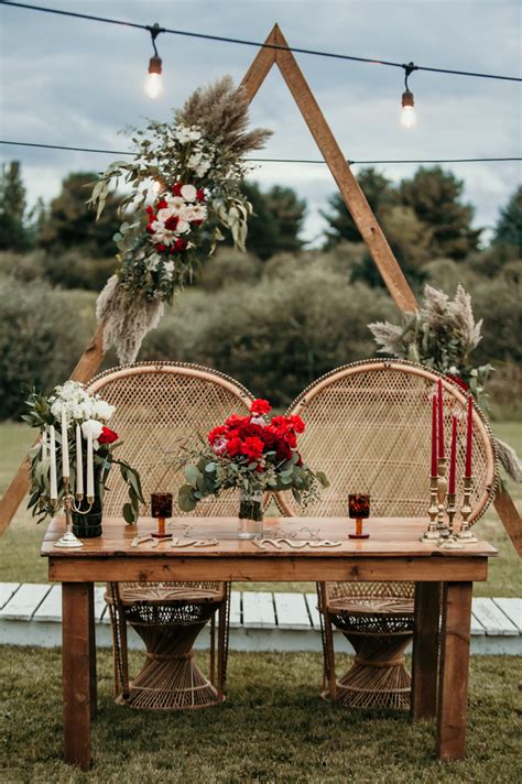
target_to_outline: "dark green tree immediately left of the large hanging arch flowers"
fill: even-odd
[[[94,220],[87,206],[95,172],[73,172],[62,183],[61,194],[53,199],[40,235],[40,246],[51,254],[62,254],[72,248],[95,259],[112,257],[113,233],[120,224],[118,208],[121,197],[107,194],[105,210]]]

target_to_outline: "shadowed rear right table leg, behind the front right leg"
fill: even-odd
[[[415,720],[429,719],[436,715],[437,710],[441,591],[441,582],[416,582],[415,585],[410,711]]]

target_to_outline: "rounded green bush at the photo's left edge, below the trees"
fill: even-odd
[[[66,379],[94,327],[93,297],[0,277],[0,418],[24,410],[22,388]]]

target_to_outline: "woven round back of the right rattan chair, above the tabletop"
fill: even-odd
[[[308,508],[311,515],[348,516],[348,493],[369,492],[371,516],[426,518],[429,503],[432,396],[442,378],[446,455],[452,415],[460,415],[457,444],[457,509],[463,502],[466,394],[439,373],[404,361],[367,360],[338,368],[308,386],[290,406],[306,431],[305,462],[325,471],[330,487]],[[478,407],[472,421],[470,521],[491,503],[496,484],[492,435]],[[297,514],[290,493],[278,497]],[[459,525],[460,516],[456,523]],[[371,523],[369,527],[371,526]]]

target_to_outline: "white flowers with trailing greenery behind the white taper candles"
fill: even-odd
[[[123,518],[128,523],[134,523],[139,503],[144,503],[144,499],[138,471],[115,456],[115,449],[123,443],[118,433],[107,426],[115,406],[97,394],[89,394],[78,381],[70,380],[55,386],[48,395],[33,390],[25,402],[29,413],[22,420],[40,429],[40,440],[29,453],[31,489],[28,509],[39,518],[37,522],[63,509],[63,436],[66,434],[72,492],[77,499],[83,497],[81,504],[87,508],[90,473],[93,496],[101,505],[109,471],[116,464],[129,488]]]

